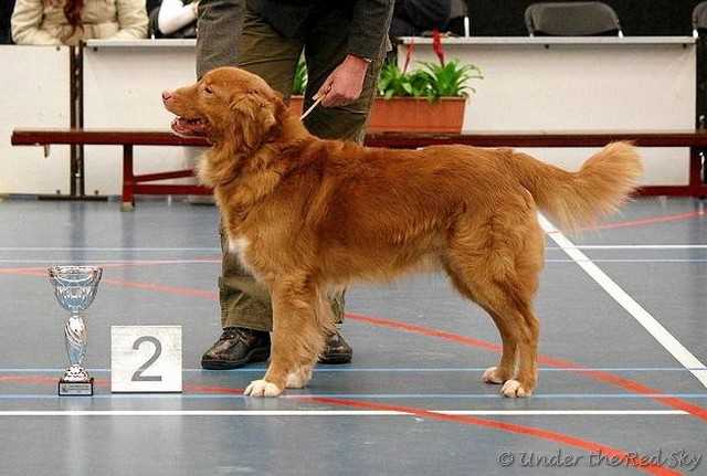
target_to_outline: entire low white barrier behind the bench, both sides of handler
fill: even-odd
[[[485,80],[467,104],[465,130],[692,129],[695,45],[690,39],[547,40],[456,39],[447,57],[477,64]],[[160,93],[194,80],[193,41],[105,42],[84,61],[85,125],[91,128],[167,129],[171,115]],[[413,62],[434,61],[418,40]],[[0,47],[0,193],[67,192],[68,148],[10,147],[14,127],[68,126],[68,52],[36,46]],[[4,83],[7,81],[7,83]],[[531,150],[577,168],[591,149]],[[140,147],[136,170],[191,167],[198,151]],[[687,182],[686,149],[645,149],[651,184]],[[86,148],[86,192],[119,194],[122,151]]]

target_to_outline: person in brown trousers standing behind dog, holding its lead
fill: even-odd
[[[238,9],[242,33],[233,44]],[[297,62],[304,56],[308,84],[305,110],[321,104],[304,120],[315,136],[361,142],[388,50],[393,0],[202,0],[197,45],[198,74],[234,65],[263,77],[288,98]],[[218,14],[220,11],[222,14]],[[213,43],[209,41],[213,39]],[[238,55],[235,50],[238,47]],[[205,369],[232,369],[270,355],[272,307],[267,290],[226,253],[219,283],[221,338],[203,355]],[[331,298],[336,319],[344,316],[344,296]],[[347,363],[352,350],[340,334],[327,339],[325,363]]]

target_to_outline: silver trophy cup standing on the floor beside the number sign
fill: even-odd
[[[93,395],[93,378],[83,367],[87,343],[83,311],[96,297],[102,274],[103,269],[95,266],[49,268],[49,281],[54,287],[54,296],[59,304],[71,313],[64,326],[70,367],[59,381],[60,395]]]

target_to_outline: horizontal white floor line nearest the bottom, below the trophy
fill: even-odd
[[[682,410],[430,410],[441,415],[467,416],[605,416],[687,415]],[[397,416],[388,410],[11,410],[0,416]]]

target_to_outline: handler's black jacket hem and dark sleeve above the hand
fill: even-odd
[[[279,34],[306,39],[307,31],[333,9],[351,19],[348,53],[374,59],[388,34],[393,0],[247,0]]]

